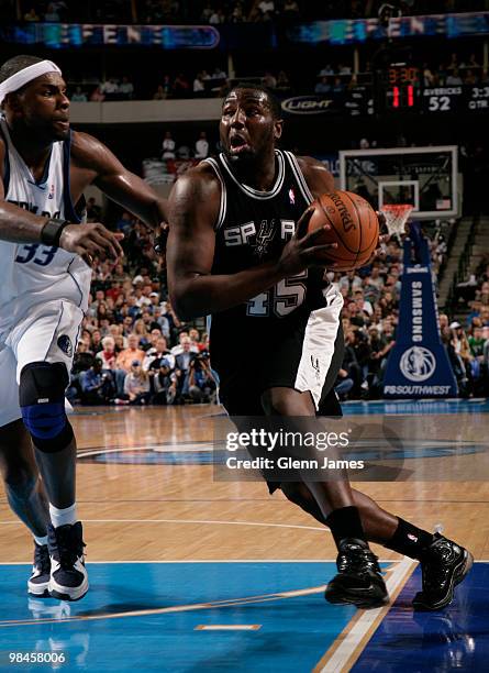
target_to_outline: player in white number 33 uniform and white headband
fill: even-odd
[[[95,184],[156,228],[166,220],[165,201],[98,140],[70,131],[66,84],[54,63],[4,63],[0,106],[0,468],[13,511],[35,538],[29,592],[78,600],[88,578],[65,388],[89,264],[96,255],[119,260],[122,235],[84,223],[77,205]]]

